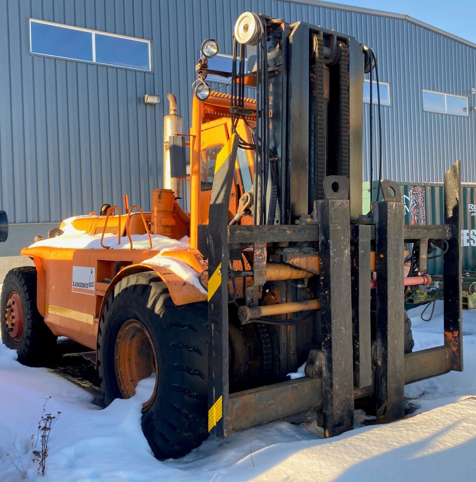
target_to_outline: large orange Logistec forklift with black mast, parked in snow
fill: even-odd
[[[189,134],[168,95],[151,212],[125,196],[63,221],[22,250],[35,267],[11,270],[1,292],[2,341],[19,362],[44,363],[67,336],[96,353],[106,404],[155,374],[142,426],[160,459],[311,409],[338,435],[358,400],[396,420],[405,384],[463,369],[459,163],[445,175],[444,225],[404,226],[399,188],[381,175],[362,213],[373,50],[250,12],[231,72],[209,67],[218,50],[202,44]],[[209,74],[229,78],[230,94],[212,92]],[[404,297],[431,281],[430,253],[443,257],[444,335],[412,353]]]

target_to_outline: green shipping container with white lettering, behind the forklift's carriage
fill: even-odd
[[[405,204],[405,224],[444,224],[443,183],[397,183]],[[370,210],[370,182],[363,183],[363,213]],[[377,196],[373,183],[373,199]],[[463,184],[463,269],[476,269],[476,184]],[[443,260],[428,261],[428,273],[443,274]]]

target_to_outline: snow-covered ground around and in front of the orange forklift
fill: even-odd
[[[442,302],[432,321],[410,311],[415,348],[442,344]],[[427,315],[428,313],[426,313]],[[99,410],[92,396],[41,368],[15,361],[0,346],[0,481],[35,480],[31,436],[47,412],[61,415],[49,441],[44,481],[459,481],[476,473],[476,313],[464,311],[463,373],[406,387],[415,414],[324,440],[316,423],[277,422],[227,440],[211,438],[180,460],[156,460],[141,431],[145,381],[135,397]],[[362,422],[365,416],[357,413]],[[13,446],[14,445],[14,446]],[[10,457],[6,456],[10,454]]]

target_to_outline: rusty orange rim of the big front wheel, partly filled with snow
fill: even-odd
[[[128,320],[121,326],[116,339],[114,365],[123,398],[134,396],[137,383],[152,373],[156,374],[153,392],[143,404],[143,411],[146,410],[157,392],[158,363],[152,338],[141,322]]]

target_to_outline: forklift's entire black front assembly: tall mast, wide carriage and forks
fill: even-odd
[[[444,225],[404,226],[389,180],[362,215],[363,80],[373,51],[348,35],[249,12],[234,39],[231,122],[251,113],[248,85],[256,125],[254,144],[235,131],[217,157],[212,222],[198,225],[208,258],[208,429],[226,437],[313,408],[330,437],[353,428],[354,401],[372,394],[377,421],[401,418],[406,383],[463,369],[459,162],[445,175]],[[199,68],[203,82],[206,61]],[[254,150],[251,225],[228,220],[238,148]],[[404,243],[424,272],[429,246],[443,242],[444,345],[404,355],[405,287],[422,284],[418,269],[404,279]],[[270,374],[244,391],[230,390],[237,318],[240,330],[258,327],[256,379]],[[303,362],[307,376],[287,379]]]

